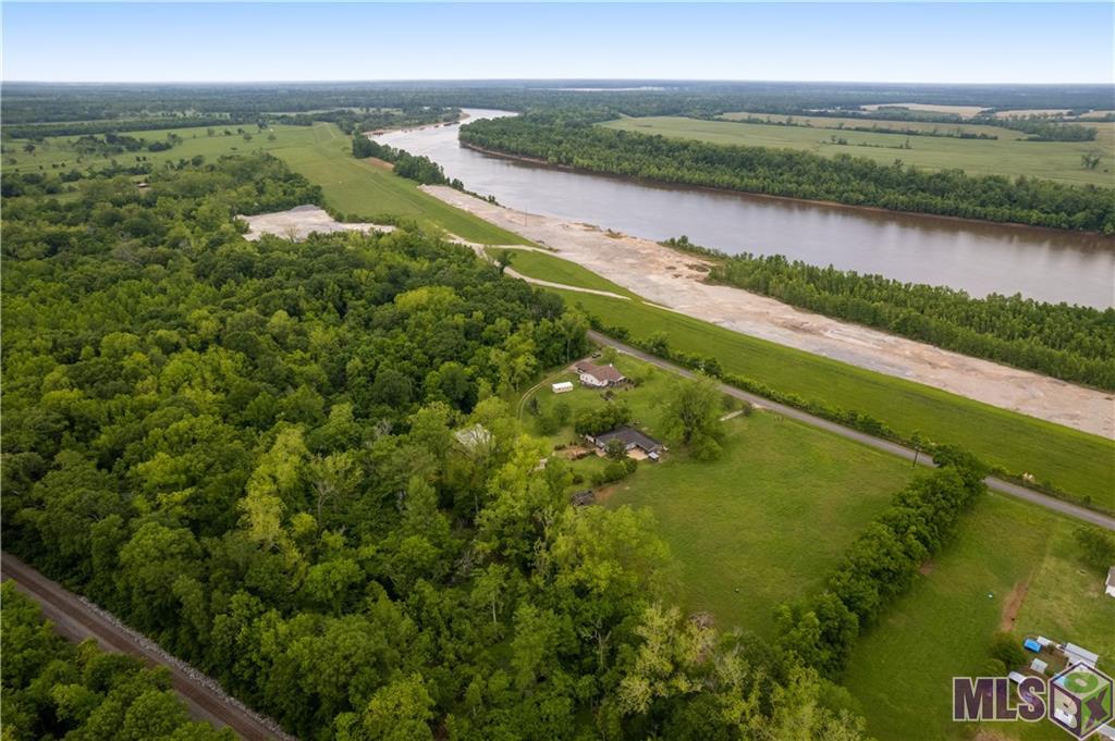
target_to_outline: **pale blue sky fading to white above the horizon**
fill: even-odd
[[[3,79],[1112,82],[1115,4],[4,2]]]

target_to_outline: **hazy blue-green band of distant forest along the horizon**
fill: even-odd
[[[304,82],[284,85],[50,85],[4,82],[4,124],[136,117],[222,115],[339,108],[485,107],[508,110],[607,107],[629,116],[715,116],[733,110],[957,120],[927,110],[873,113],[863,106],[924,104],[995,110],[1109,109],[1109,85],[902,85],[885,82],[733,82],[678,80],[488,80],[430,82]],[[614,117],[614,116],[613,116]],[[176,124],[183,126],[185,124]],[[118,129],[129,130],[129,129]],[[134,130],[134,129],[132,129]]]

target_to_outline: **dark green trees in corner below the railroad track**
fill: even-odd
[[[68,643],[11,583],[0,587],[3,738],[68,741],[234,741],[191,722],[165,669]]]

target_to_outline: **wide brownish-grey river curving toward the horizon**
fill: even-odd
[[[473,119],[507,111],[466,109]],[[462,147],[458,126],[377,136],[426,155],[465,187],[503,205],[650,240],[685,234],[729,254],[784,254],[976,296],[1115,304],[1115,238],[851,208],[591,175]]]

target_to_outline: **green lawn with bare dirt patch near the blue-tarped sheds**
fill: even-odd
[[[1076,526],[1035,506],[988,495],[958,537],[882,622],[861,637],[844,684],[882,741],[970,738],[950,720],[951,677],[986,674],[988,649],[1015,589],[1029,588],[1014,635],[1078,643],[1115,669],[1115,599],[1076,560]],[[1009,616],[1009,615],[1008,615]],[[1105,663],[1106,660],[1106,663]],[[989,727],[1022,739],[1065,738],[1048,723]]]

